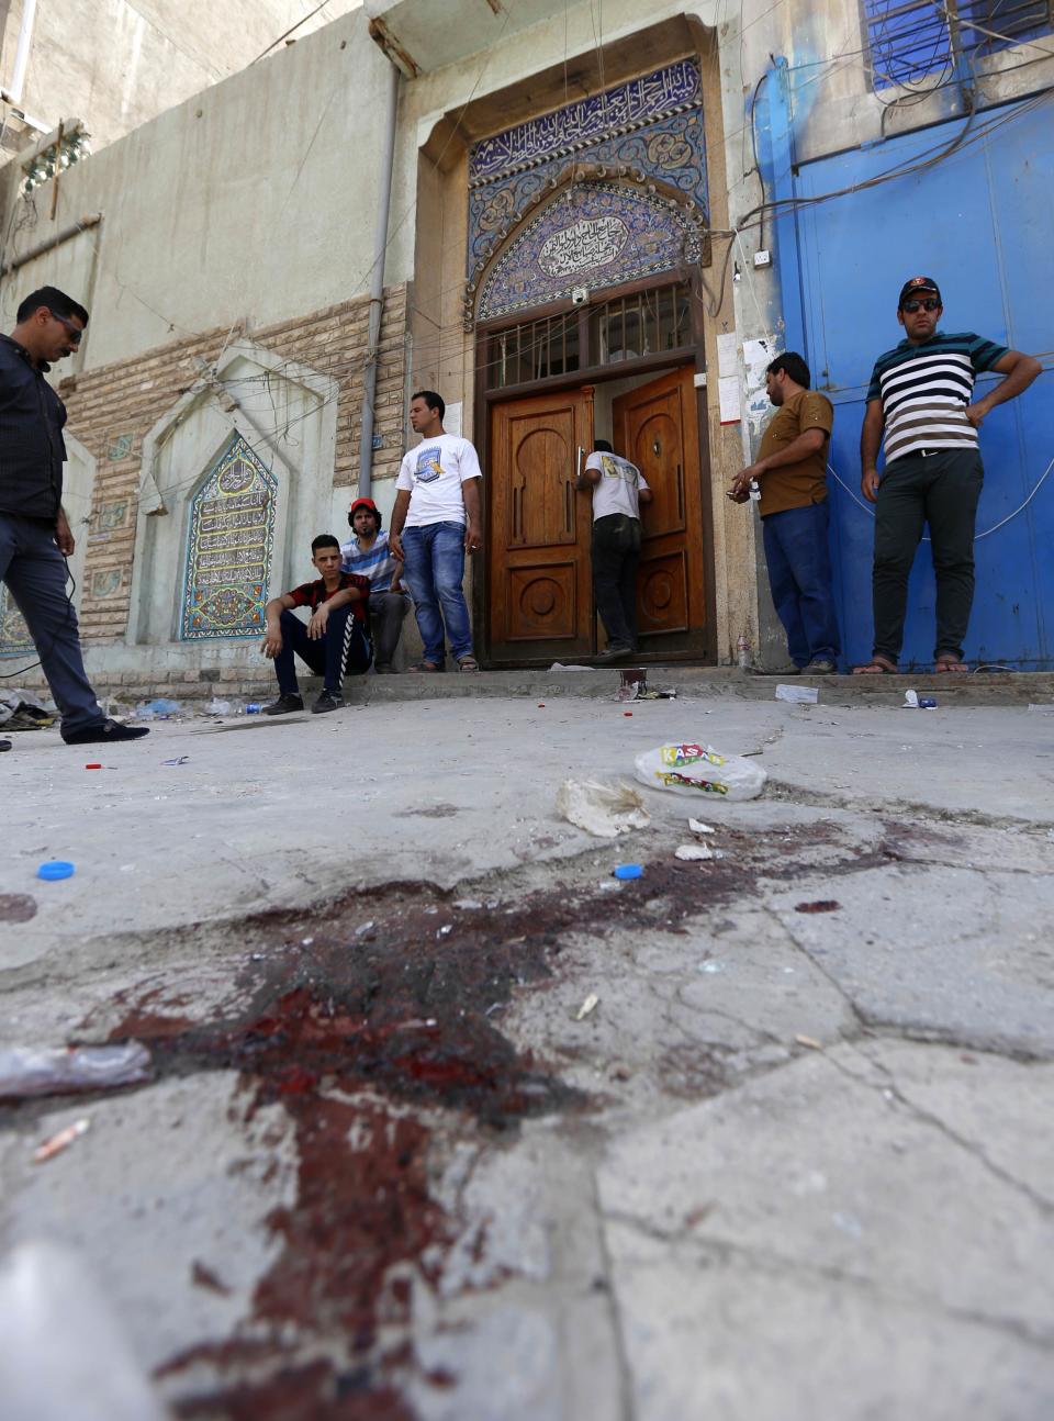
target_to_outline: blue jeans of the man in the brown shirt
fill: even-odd
[[[830,517],[824,499],[761,520],[768,585],[797,666],[841,655],[827,543]]]

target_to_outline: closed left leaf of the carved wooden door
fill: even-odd
[[[490,426],[490,658],[565,661],[592,648],[592,389],[494,405]]]

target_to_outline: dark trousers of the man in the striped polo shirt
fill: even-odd
[[[903,644],[908,574],[929,523],[938,583],[935,657],[963,655],[973,605],[973,529],[984,468],[974,449],[905,455],[888,465],[875,506],[875,655]]]

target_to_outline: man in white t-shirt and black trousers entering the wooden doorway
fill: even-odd
[[[592,489],[592,587],[608,634],[597,661],[622,661],[636,651],[636,564],[641,560],[641,503],[652,490],[635,463],[619,458],[607,439],[594,439],[578,476]]]

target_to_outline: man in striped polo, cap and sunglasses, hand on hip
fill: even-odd
[[[855,668],[862,674],[896,671],[908,574],[923,523],[938,584],[936,669],[967,669],[962,644],[973,603],[973,524],[984,477],[977,431],[996,405],[1020,395],[1043,368],[1031,355],[980,335],[938,331],[942,311],[932,277],[905,281],[896,307],[905,340],[879,355],[871,375],[859,458],[861,492],[875,504],[875,645],[871,661]],[[974,378],[989,369],[1006,379],[974,402]]]

